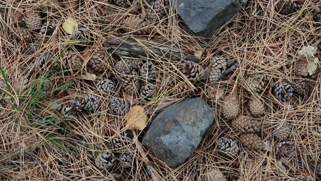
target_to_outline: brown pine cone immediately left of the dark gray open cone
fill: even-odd
[[[264,74],[254,74],[249,76],[246,80],[250,91],[253,91],[254,93],[261,93],[262,91],[264,91],[268,82],[269,77]]]

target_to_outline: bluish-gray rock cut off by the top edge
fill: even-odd
[[[211,37],[241,10],[239,0],[173,0],[177,13],[197,35]]]

